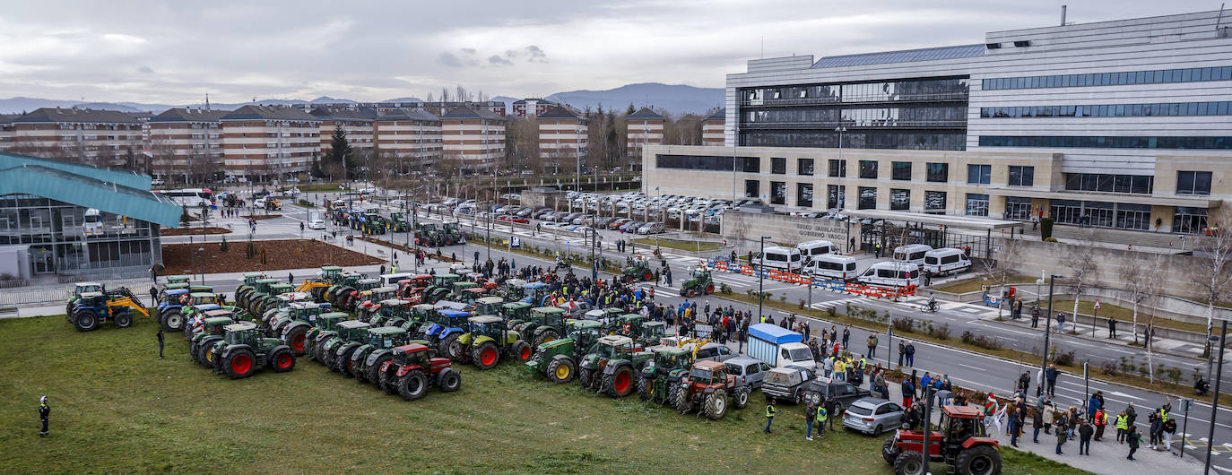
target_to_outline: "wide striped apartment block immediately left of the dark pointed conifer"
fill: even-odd
[[[293,107],[244,106],[223,116],[228,177],[286,180],[320,153],[320,118]]]

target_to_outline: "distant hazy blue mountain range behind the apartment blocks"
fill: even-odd
[[[557,92],[546,97],[549,101],[563,102],[573,106],[578,110],[596,110],[600,105],[605,110],[615,108],[617,111],[623,111],[630,103],[634,108],[641,108],[643,106],[650,106],[654,108],[664,108],[673,113],[705,113],[711,108],[721,107],[723,103],[723,90],[719,87],[694,87],[685,85],[667,85],[659,82],[642,82],[642,84],[630,84],[626,86],[609,89],[606,91],[589,91],[578,90],[568,92]],[[509,96],[495,96],[493,101],[505,102],[506,111],[513,108],[513,103],[517,101],[515,97]],[[382,102],[420,102],[418,97],[398,97],[391,98]],[[232,111],[248,105],[302,105],[302,103],[328,103],[328,102],[349,102],[354,103],[356,101],[349,98],[336,98],[329,96],[317,97],[310,101],[303,100],[285,100],[285,98],[267,98],[253,102],[238,102],[238,103],[219,103],[211,102],[209,107],[221,111]],[[17,114],[22,112],[30,112],[39,107],[81,107],[81,108],[102,108],[122,112],[153,112],[159,113],[172,107],[203,107],[203,103],[190,103],[190,105],[165,105],[165,103],[143,103],[143,102],[83,102],[83,101],[65,101],[54,98],[38,98],[38,97],[11,97],[0,98],[0,113]]]

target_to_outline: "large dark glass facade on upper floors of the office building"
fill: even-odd
[[[740,145],[966,148],[966,78],[764,86],[738,94]]]

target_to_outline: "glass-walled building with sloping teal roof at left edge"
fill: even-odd
[[[148,276],[180,210],[148,175],[0,153],[0,276]]]

